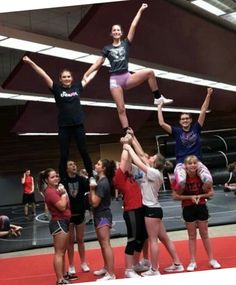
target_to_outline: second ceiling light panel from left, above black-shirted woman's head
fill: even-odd
[[[88,53],[75,51],[75,50],[69,50],[65,48],[58,48],[58,47],[52,47],[50,49],[42,50],[42,51],[39,51],[39,53],[67,58],[67,59],[77,59],[77,58],[88,55]]]

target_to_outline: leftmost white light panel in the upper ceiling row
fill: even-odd
[[[13,49],[26,50],[31,52],[39,52],[43,49],[48,49],[51,47],[49,45],[44,45],[25,40],[18,40],[15,38],[6,38],[5,40],[0,41],[0,46],[13,48]]]

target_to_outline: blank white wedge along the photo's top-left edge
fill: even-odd
[[[89,5],[127,0],[7,0],[1,3],[0,13]]]

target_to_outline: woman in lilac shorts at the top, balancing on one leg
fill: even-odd
[[[148,81],[149,87],[154,94],[154,104],[172,103],[173,100],[166,99],[159,93],[155,74],[151,69],[142,69],[133,74],[128,72],[129,47],[134,38],[136,26],[140,20],[143,11],[148,7],[147,4],[142,4],[134,17],[129,28],[128,35],[125,40],[122,40],[122,28],[120,25],[113,25],[111,28],[112,44],[107,45],[102,50],[102,56],[88,69],[84,78],[86,79],[95,70],[98,70],[104,63],[105,58],[108,58],[110,68],[110,91],[116,103],[121,126],[126,133],[129,123],[125,110],[123,90],[134,88],[144,81]]]

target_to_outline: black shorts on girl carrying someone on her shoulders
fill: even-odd
[[[191,205],[183,208],[183,218],[185,222],[207,221],[209,212],[206,204]]]

